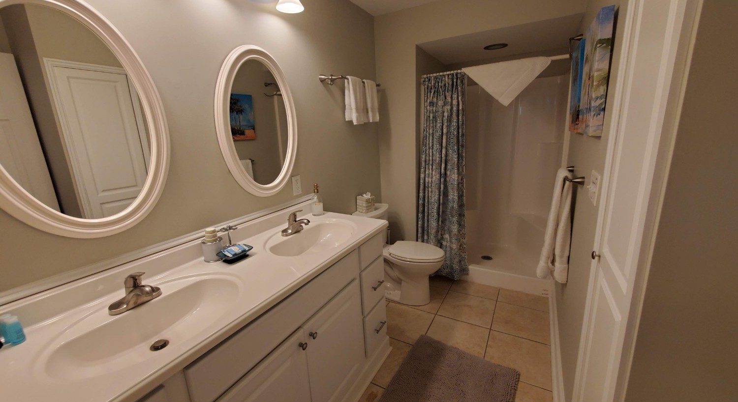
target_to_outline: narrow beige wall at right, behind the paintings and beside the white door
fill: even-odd
[[[601,7],[610,4],[619,4],[618,0],[590,0],[582,18],[580,32],[586,32]],[[624,18],[617,21],[615,31],[623,26]],[[617,74],[617,64],[620,60],[621,42],[615,34],[613,45],[613,62],[610,70],[610,88],[613,87],[613,77]],[[608,100],[612,92],[607,94]],[[607,137],[610,136],[610,117],[612,114],[605,111],[605,124],[601,137],[571,134],[567,164],[574,166],[574,174],[590,177],[592,170],[602,174],[604,169],[605,153],[607,151]],[[574,221],[571,233],[571,250],[569,256],[568,283],[556,283],[556,314],[559,320],[559,342],[561,346],[562,372],[564,391],[569,401],[574,387],[576,372],[576,358],[579,353],[579,337],[584,319],[584,304],[587,301],[587,285],[590,280],[590,263],[597,211],[600,205],[598,200],[595,207],[590,201],[587,191],[575,189]]]

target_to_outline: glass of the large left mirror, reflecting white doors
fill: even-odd
[[[137,91],[108,46],[37,4],[0,9],[0,164],[47,207],[105,218],[138,197],[148,131]]]

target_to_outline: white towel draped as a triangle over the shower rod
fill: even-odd
[[[469,78],[475,80],[485,91],[489,92],[494,99],[507,106],[550,63],[551,59],[545,57],[523,58],[482,66],[464,67],[461,70],[466,72]]]

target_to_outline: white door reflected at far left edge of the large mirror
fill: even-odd
[[[21,76],[9,53],[0,53],[0,164],[38,201],[59,210]]]

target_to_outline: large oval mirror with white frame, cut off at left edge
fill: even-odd
[[[121,232],[159,198],[162,104],[111,24],[73,0],[0,1],[0,207],[75,238]]]

